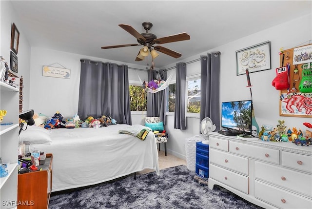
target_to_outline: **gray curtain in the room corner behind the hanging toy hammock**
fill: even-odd
[[[158,76],[157,76],[158,73]],[[162,80],[167,80],[167,71],[166,70],[150,70],[148,71],[148,81],[156,79],[159,77]],[[163,91],[158,91],[156,93],[147,93],[147,117],[160,117],[160,121],[164,122],[166,125],[166,104],[167,104],[167,95],[168,88]]]

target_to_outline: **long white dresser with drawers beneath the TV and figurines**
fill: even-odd
[[[263,208],[312,209],[312,145],[212,132],[208,182]]]

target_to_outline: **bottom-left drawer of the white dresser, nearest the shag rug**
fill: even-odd
[[[209,178],[249,194],[249,178],[246,176],[209,164]]]

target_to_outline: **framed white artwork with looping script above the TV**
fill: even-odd
[[[271,69],[270,42],[259,43],[236,51],[236,75]]]

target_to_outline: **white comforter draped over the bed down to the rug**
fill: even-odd
[[[143,141],[118,133],[128,126],[52,129],[50,145],[32,144],[29,151],[53,154],[52,191],[98,184],[145,168],[159,175],[154,134]]]

